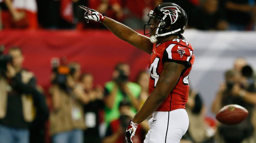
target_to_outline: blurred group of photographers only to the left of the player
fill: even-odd
[[[102,87],[79,63],[53,58],[51,87],[43,90],[23,61],[18,47],[0,54],[0,143],[123,143],[148,96],[149,73],[130,82],[126,63],[118,63]],[[147,122],[138,126],[134,143],[143,142]]]

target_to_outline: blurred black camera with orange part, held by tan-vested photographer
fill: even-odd
[[[52,58],[52,72],[55,73],[55,77],[52,83],[58,84],[61,88],[66,89],[67,76],[75,73],[75,68],[69,68],[67,66],[66,58]]]

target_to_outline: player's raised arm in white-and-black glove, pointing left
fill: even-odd
[[[88,20],[94,20],[102,22],[113,34],[115,34],[120,39],[132,44],[133,46],[145,51],[149,54],[152,52],[153,44],[150,42],[149,38],[143,36],[136,31],[132,30],[131,28],[113,20],[104,15],[100,14],[99,12],[89,9],[85,6],[80,6],[83,10],[85,10],[84,18]]]

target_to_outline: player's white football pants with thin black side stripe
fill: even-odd
[[[144,143],[179,143],[188,129],[189,120],[185,109],[176,109],[156,111],[148,123],[150,129]]]

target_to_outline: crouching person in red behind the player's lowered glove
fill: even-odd
[[[103,143],[125,143],[125,129],[129,124],[130,118],[134,116],[131,112],[131,104],[127,100],[119,103],[119,118],[110,122]],[[136,136],[132,138],[134,143],[142,143],[144,134],[149,130],[147,120],[138,125]]]

